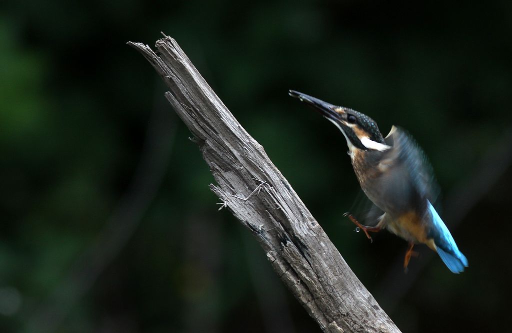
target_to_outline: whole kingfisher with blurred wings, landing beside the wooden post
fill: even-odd
[[[414,139],[398,126],[384,138],[366,114],[336,106],[304,93],[289,95],[311,106],[345,136],[348,154],[362,191],[383,212],[375,226],[362,225],[352,214],[345,216],[370,239],[368,232],[387,229],[409,243],[403,267],[407,271],[416,244],[425,244],[439,254],[453,272],[467,267],[467,259],[439,217],[433,202],[437,187],[432,167]]]

